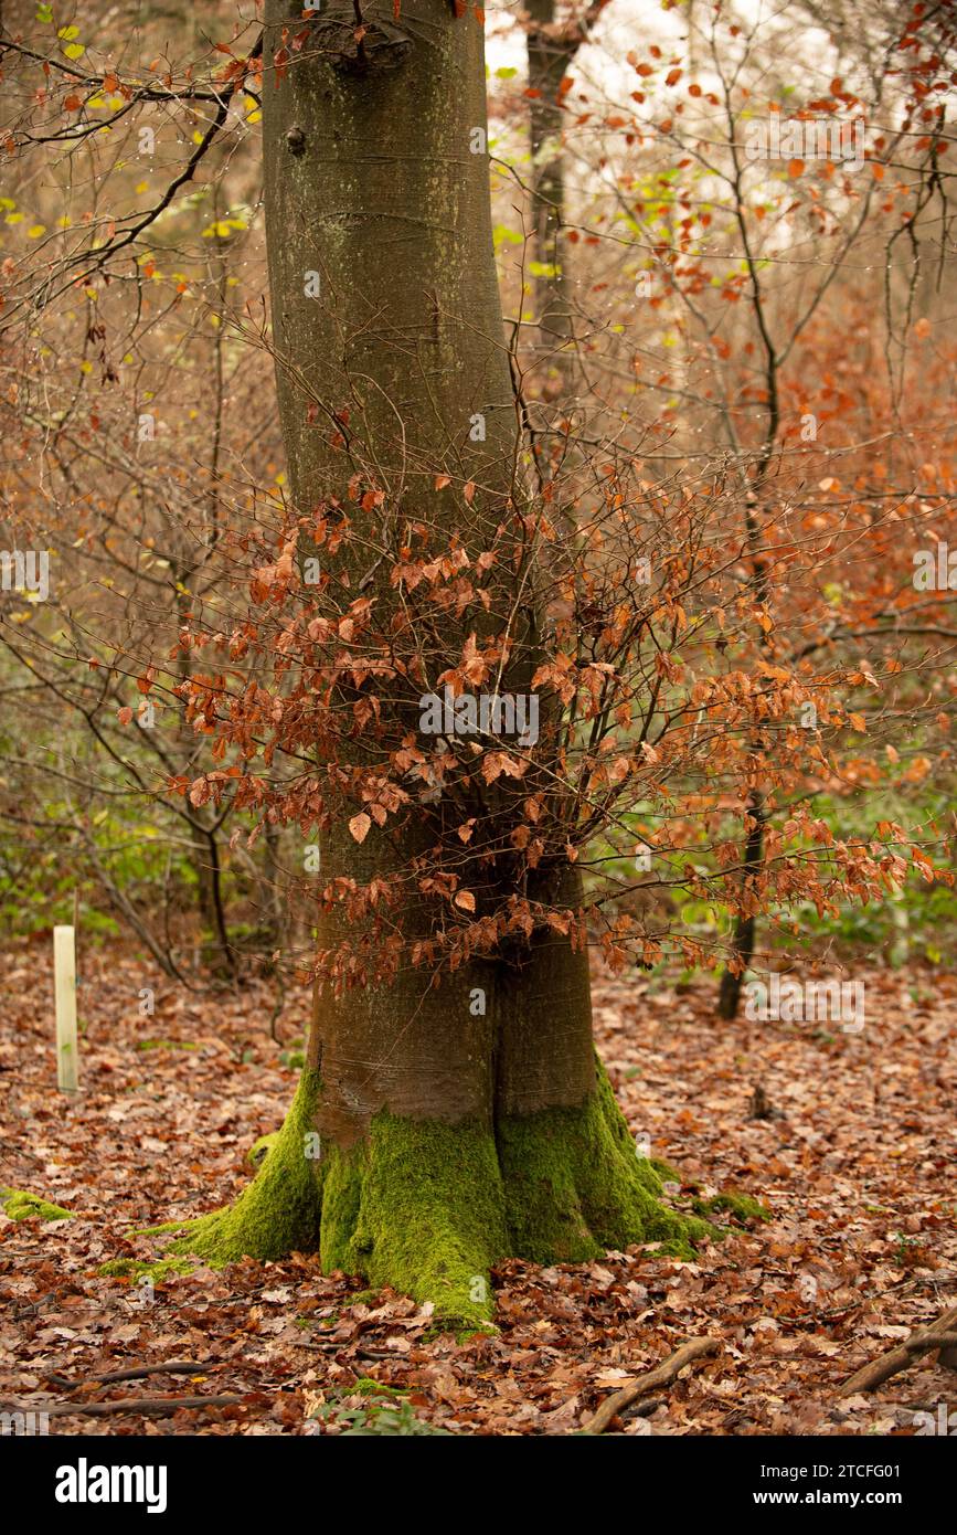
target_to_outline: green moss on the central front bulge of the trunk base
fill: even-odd
[[[449,1325],[492,1314],[488,1273],[508,1253],[495,1141],[486,1125],[376,1114],[368,1137],[333,1147],[322,1185],[322,1266],[363,1274]],[[268,1160],[267,1160],[268,1167]]]

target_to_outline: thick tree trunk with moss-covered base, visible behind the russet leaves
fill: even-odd
[[[282,23],[307,41],[275,68]],[[498,519],[515,456],[488,160],[469,149],[486,123],[482,26],[446,0],[403,0],[394,21],[391,0],[377,0],[363,5],[362,28],[356,41],[351,0],[330,0],[310,23],[299,0],[267,3],[267,241],[291,494],[307,511],[342,496],[356,467],[376,465],[403,519],[445,516],[482,548],[482,519]],[[319,273],[317,301],[304,296],[308,272]],[[321,402],[319,425],[310,402]],[[334,447],[342,407],[347,442]],[[436,493],[442,470],[479,487],[468,510],[460,494]],[[368,514],[370,540],[391,500]],[[354,596],[354,551],[339,576],[342,560]],[[324,565],[334,565],[328,553]],[[376,600],[394,606],[388,571],[373,580]],[[462,648],[452,628],[446,665]],[[362,751],[357,741],[356,761]],[[324,873],[385,876],[428,847],[423,835],[408,821],[388,837],[373,827],[359,846],[333,826]],[[571,866],[543,880],[552,901],[578,904]],[[420,896],[390,916],[406,938],[436,921]],[[344,918],[324,919],[319,947],[344,930]],[[595,1059],[587,952],[541,932],[440,979],[408,967],[342,998],[317,989],[276,1145],[239,1202],[178,1245],[218,1262],[319,1249],[325,1268],[468,1323],[491,1315],[488,1273],[506,1256],[581,1260],[709,1230],[658,1193]]]

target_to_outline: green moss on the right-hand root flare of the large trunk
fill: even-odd
[[[604,1067],[580,1108],[549,1108],[497,1128],[511,1246],[535,1263],[580,1263],[606,1248],[661,1242],[679,1257],[716,1236],[661,1203],[658,1168],[640,1157]]]

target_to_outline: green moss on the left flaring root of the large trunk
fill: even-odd
[[[321,1168],[308,1156],[319,1076],[304,1071],[282,1130],[253,1182],[235,1205],[190,1220],[169,1248],[213,1266],[241,1257],[278,1259],[319,1246]]]

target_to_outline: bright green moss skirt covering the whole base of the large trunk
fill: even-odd
[[[494,1128],[383,1110],[345,1150],[317,1145],[321,1091],[319,1076],[304,1073],[235,1205],[186,1223],[155,1265],[124,1259],[123,1271],[166,1277],[187,1257],[221,1266],[317,1251],[327,1271],[360,1274],[431,1302],[449,1326],[475,1328],[492,1317],[489,1273],[502,1259],[578,1263],[644,1242],[690,1259],[695,1242],[718,1236],[661,1202],[663,1165],[636,1154],[600,1062],[577,1108]]]

